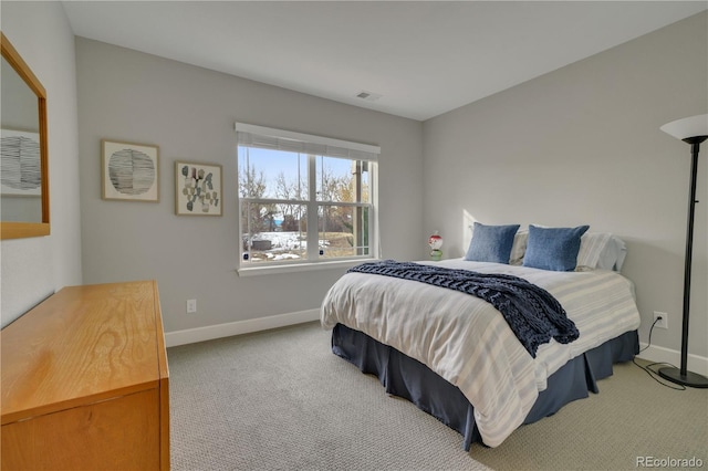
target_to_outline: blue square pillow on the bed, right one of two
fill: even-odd
[[[577,264],[580,238],[590,226],[576,228],[540,228],[529,226],[523,266],[556,272],[572,272]]]

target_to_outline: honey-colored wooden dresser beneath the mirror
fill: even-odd
[[[156,282],[64,287],[0,342],[2,470],[169,469]]]

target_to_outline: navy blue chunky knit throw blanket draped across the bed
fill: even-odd
[[[522,278],[394,260],[363,263],[352,266],[348,272],[414,280],[480,297],[503,315],[533,358],[539,345],[548,343],[551,337],[569,344],[580,335],[558,300]]]

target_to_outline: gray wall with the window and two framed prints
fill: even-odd
[[[317,308],[343,273],[238,276],[237,121],[381,146],[384,254],[419,257],[421,123],[82,38],[76,55],[84,282],[157,280],[167,332]],[[101,199],[102,138],[159,146],[159,203]],[[223,217],[175,216],[177,159],[223,166]]]

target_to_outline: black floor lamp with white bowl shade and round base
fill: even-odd
[[[708,388],[708,378],[687,370],[688,362],[688,307],[690,305],[690,262],[694,245],[694,213],[696,212],[696,176],[698,174],[698,149],[708,139],[708,115],[677,119],[662,126],[662,130],[690,144],[690,193],[688,197],[688,229],[686,231],[686,261],[684,270],[684,317],[681,327],[681,367],[659,369],[659,376],[684,386]]]

